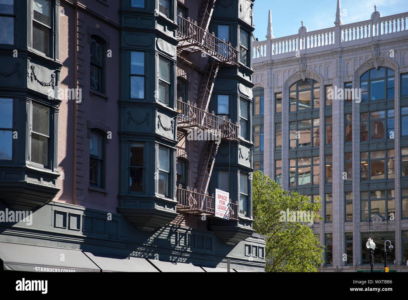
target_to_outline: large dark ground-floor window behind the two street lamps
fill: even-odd
[[[371,263],[371,254],[370,249],[367,249],[366,243],[368,238],[372,238],[375,242],[374,249],[374,264],[381,266],[381,269],[384,267],[384,241],[389,240],[393,246],[395,246],[395,231],[386,231],[386,232],[362,232],[361,233],[361,265],[370,265]],[[395,248],[390,250],[388,249],[388,243],[386,245],[387,250],[387,265],[394,265],[395,260]],[[406,263],[406,262],[404,262]]]

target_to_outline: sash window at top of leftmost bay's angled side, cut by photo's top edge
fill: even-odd
[[[50,56],[51,41],[53,40],[52,24],[54,23],[53,1],[32,0],[32,47]]]

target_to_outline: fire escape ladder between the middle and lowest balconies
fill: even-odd
[[[217,156],[219,145],[220,143],[216,143],[215,141],[210,140],[207,142],[207,148],[204,152],[200,173],[195,185],[197,191],[200,193],[205,194],[208,191],[208,185],[210,184],[211,173],[213,173],[215,157]]]

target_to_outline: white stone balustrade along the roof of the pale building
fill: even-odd
[[[310,31],[301,35],[295,34],[272,40],[256,41],[253,42],[253,62],[274,59],[273,56],[281,57],[285,53],[297,50],[311,49],[313,52],[323,50],[316,48],[328,45],[332,45],[330,47],[346,47],[376,40],[379,36],[392,38],[401,31],[407,31],[408,34],[408,12],[382,17],[378,21],[365,20],[344,24],[340,27]],[[288,55],[291,54],[286,54],[283,57]]]

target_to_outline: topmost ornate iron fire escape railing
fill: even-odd
[[[177,16],[179,29],[177,31],[178,49],[189,52],[202,52],[220,62],[238,65],[238,47],[232,47],[226,40],[220,40],[214,33],[202,29],[189,17],[183,18],[182,13]]]

